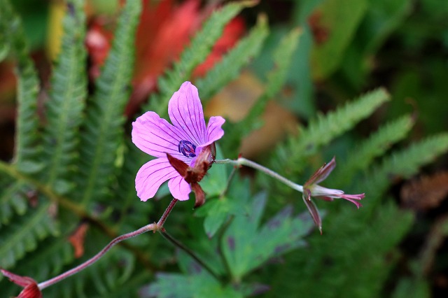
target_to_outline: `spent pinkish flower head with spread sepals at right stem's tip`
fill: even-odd
[[[321,216],[318,213],[317,207],[311,197],[317,197],[318,199],[324,199],[325,201],[333,201],[334,199],[346,199],[356,205],[357,208],[363,206],[360,204],[360,200],[365,197],[365,194],[345,194],[342,190],[333,190],[331,188],[322,187],[318,185],[325,180],[328,175],[335,169],[336,159],[333,157],[328,164],[323,164],[321,169],[318,169],[311,178],[303,185],[303,201],[307,205],[309,213],[313,218],[316,225],[319,227],[322,234],[322,221]]]

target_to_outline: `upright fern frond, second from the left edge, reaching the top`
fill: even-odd
[[[64,35],[52,72],[50,99],[46,105],[44,148],[50,157],[45,177],[57,192],[69,190],[63,178],[76,158],[78,129],[86,97],[85,15],[83,1],[68,1],[63,20]]]

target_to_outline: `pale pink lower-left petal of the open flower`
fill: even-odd
[[[147,201],[155,196],[160,185],[166,180],[181,176],[173,168],[167,157],[160,157],[146,162],[137,173],[135,189],[141,201]],[[176,198],[177,199],[177,198]]]

